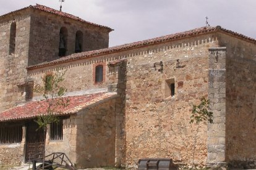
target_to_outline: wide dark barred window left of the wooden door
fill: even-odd
[[[22,142],[22,125],[0,126],[0,144]]]

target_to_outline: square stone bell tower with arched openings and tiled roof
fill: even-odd
[[[113,31],[39,4],[0,16],[0,29],[0,111],[30,99],[28,66],[106,48]]]

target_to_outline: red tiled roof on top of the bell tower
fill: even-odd
[[[42,6],[40,4],[36,4],[35,6],[28,6],[28,7],[24,7],[22,9],[19,9],[19,10],[14,10],[12,12],[9,12],[7,14],[4,14],[4,15],[1,15],[0,18],[6,16],[6,15],[9,15],[9,14],[12,14],[14,12],[18,12],[20,10],[24,10],[24,9],[28,9],[28,8],[33,8],[33,9],[38,9],[38,10],[42,10],[44,12],[49,12],[51,14],[56,14],[56,15],[60,15],[61,17],[66,17],[66,18],[70,18],[72,20],[77,20],[79,22],[84,22],[84,23],[88,23],[90,25],[95,25],[95,26],[100,26],[101,28],[107,28],[109,31],[113,31],[112,28],[109,28],[108,26],[103,26],[103,25],[98,25],[96,23],[92,23],[92,22],[87,22],[79,17],[76,17],[75,15],[71,15],[71,14],[67,14],[66,12],[61,12],[59,10],[56,10],[56,9],[52,9],[50,7],[46,7],[46,6]]]

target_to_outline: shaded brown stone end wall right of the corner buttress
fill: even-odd
[[[226,59],[226,160],[233,166],[256,167],[256,47],[220,34]]]

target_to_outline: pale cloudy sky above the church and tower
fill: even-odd
[[[1,2],[2,1],[2,2]],[[36,3],[59,9],[59,0],[0,0],[0,15]],[[220,25],[256,39],[255,0],[65,0],[62,11],[114,29],[116,46],[205,26]]]

